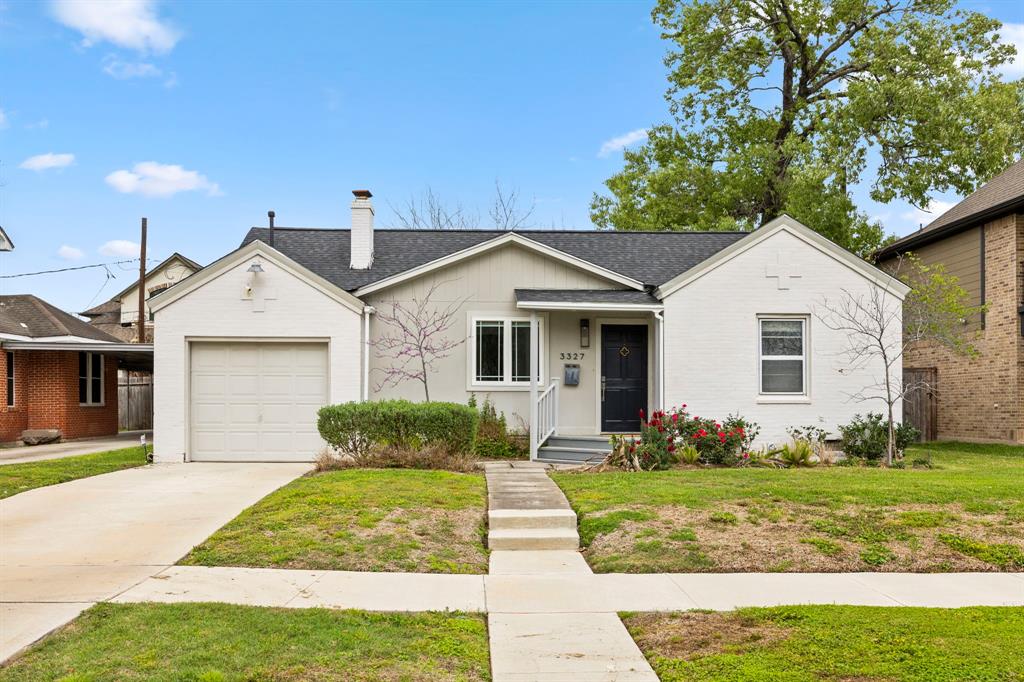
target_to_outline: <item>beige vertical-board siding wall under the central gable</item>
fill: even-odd
[[[548,256],[535,253],[515,245],[507,245],[482,253],[478,256],[460,261],[451,266],[425,273],[414,280],[403,282],[394,287],[373,293],[366,297],[368,304],[378,311],[390,311],[391,304],[399,301],[409,304],[414,298],[422,299],[430,288],[438,285],[431,301],[440,307],[455,301],[465,301],[459,308],[456,323],[449,332],[449,338],[462,341],[447,357],[438,360],[434,372],[430,373],[430,397],[433,400],[450,400],[466,402],[471,393],[475,393],[482,401],[484,395],[489,395],[495,407],[505,413],[510,428],[522,426],[518,418],[523,420],[529,416],[529,386],[471,386],[470,354],[472,343],[470,321],[480,315],[504,315],[529,317],[528,310],[520,310],[515,304],[516,289],[620,289],[621,286],[591,272],[563,263]],[[562,313],[539,313],[544,319],[544,334],[549,343],[547,353],[543,358],[545,378],[551,377],[551,372],[561,373],[562,361],[558,353],[563,351],[579,351],[580,331],[579,318],[589,316],[592,321],[596,315],[587,313],[566,315],[574,319],[574,328],[558,317]],[[592,322],[593,324],[593,322]],[[372,339],[380,338],[386,331],[377,314],[371,317]],[[593,338],[593,332],[591,332]],[[388,386],[378,390],[383,379],[383,371],[388,366],[387,358],[378,356],[371,348],[370,355],[370,397],[371,399],[407,398],[423,399],[423,386],[416,381],[407,381],[398,386]],[[594,390],[596,390],[595,371],[598,353],[592,347],[585,350],[584,361],[581,363],[581,386],[573,389],[580,394],[586,394],[585,400],[572,402],[566,407],[563,391],[563,411],[561,427],[567,433],[594,433]],[[595,365],[591,365],[591,360]],[[572,392],[568,393],[571,397]]]

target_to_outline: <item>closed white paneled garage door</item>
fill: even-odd
[[[196,462],[308,462],[323,447],[323,343],[193,343],[190,435]]]

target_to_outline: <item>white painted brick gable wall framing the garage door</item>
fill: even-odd
[[[265,309],[243,297],[251,259],[157,311],[154,446],[158,462],[181,462],[188,443],[189,341],[317,341],[328,344],[328,401],[360,395],[361,315],[263,259]],[[315,453],[313,453],[315,455]],[[311,458],[310,458],[311,459]]]

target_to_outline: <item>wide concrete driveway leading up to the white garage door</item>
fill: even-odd
[[[162,464],[0,500],[0,660],[175,563],[308,464]]]

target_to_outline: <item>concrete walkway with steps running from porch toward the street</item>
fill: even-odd
[[[577,515],[536,462],[488,463],[484,578],[495,682],[657,682],[616,610],[589,588]],[[524,571],[524,572],[519,572]],[[566,598],[568,597],[568,598]]]

